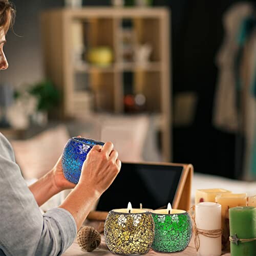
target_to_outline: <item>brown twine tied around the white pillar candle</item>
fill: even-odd
[[[193,209],[195,212],[195,205],[190,208],[189,214],[190,214],[190,217],[193,220],[193,224],[194,224],[195,248],[198,251],[200,248],[199,234],[201,234],[202,236],[207,237],[207,238],[219,238],[222,235],[222,229],[205,230],[205,229],[197,228],[196,218],[195,218],[195,216],[192,216],[190,213],[191,209]]]

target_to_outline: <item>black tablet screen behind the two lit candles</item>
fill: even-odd
[[[126,208],[157,209],[174,201],[182,166],[122,163],[113,184],[101,196],[97,210]]]

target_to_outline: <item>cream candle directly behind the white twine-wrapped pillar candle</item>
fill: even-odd
[[[231,193],[231,191],[223,188],[197,189],[195,204],[202,203],[202,202],[215,203],[216,196],[224,193]]]

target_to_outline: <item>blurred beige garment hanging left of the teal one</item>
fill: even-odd
[[[233,5],[224,15],[225,37],[216,62],[219,68],[216,96],[214,102],[214,125],[219,129],[236,133],[239,119],[236,102],[235,60],[239,50],[237,35],[242,20],[253,13],[249,3]]]

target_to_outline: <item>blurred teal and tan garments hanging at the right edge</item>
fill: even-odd
[[[237,45],[234,58],[238,115],[235,166],[241,178],[251,179],[256,175],[256,18],[253,14],[242,20]]]

